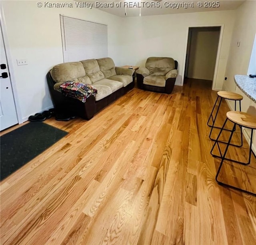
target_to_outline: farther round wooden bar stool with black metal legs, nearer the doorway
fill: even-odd
[[[217,99],[214,103],[214,106],[212,108],[212,112],[208,118],[208,121],[207,121],[207,125],[209,127],[211,127],[211,130],[210,130],[210,134],[209,134],[209,138],[212,140],[212,141],[215,141],[216,139],[213,139],[212,138],[212,130],[214,128],[218,128],[218,129],[221,129],[221,127],[216,127],[215,126],[215,122],[216,122],[216,118],[217,118],[217,115],[218,115],[218,112],[219,112],[219,109],[220,109],[220,104],[222,102],[222,99],[226,99],[226,100],[234,100],[235,102],[235,111],[236,111],[236,102],[239,102],[239,111],[241,112],[241,100],[243,99],[243,96],[240,95],[240,94],[236,94],[236,93],[233,93],[233,92],[228,92],[228,91],[218,91],[217,92]],[[219,100],[219,104],[217,106],[217,102]],[[213,116],[213,112],[214,112],[214,108],[217,106],[217,111],[216,111],[216,114],[215,116]],[[210,120],[212,120],[212,124],[210,124]],[[230,129],[223,129],[223,130],[226,130],[226,131],[232,131]],[[234,146],[237,146],[237,147],[241,147],[243,145],[243,137],[242,137],[242,128],[240,127],[240,135],[241,135],[241,144],[240,145],[234,145],[234,144],[231,144],[231,145],[234,145]],[[219,141],[221,143],[227,143],[227,142],[224,142],[224,141]]]

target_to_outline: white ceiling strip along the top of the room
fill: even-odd
[[[82,1],[79,1],[82,2]],[[98,9],[108,12],[110,14],[114,14],[116,16],[120,16],[120,17],[133,17],[133,16],[139,16],[140,14],[140,10],[141,10],[141,16],[150,16],[150,15],[159,15],[159,14],[180,14],[180,13],[192,13],[192,12],[204,12],[204,11],[219,11],[219,10],[234,10],[236,8],[238,8],[244,1],[240,1],[240,0],[219,0],[219,1],[213,1],[213,0],[201,0],[200,2],[202,2],[204,4],[204,2],[219,2],[219,7],[204,7],[202,6],[201,8],[199,8],[197,6],[197,3],[199,2],[199,0],[176,0],[176,1],[166,1],[166,0],[160,0],[160,1],[145,1],[145,0],[98,0],[98,1],[86,1],[86,2],[90,2],[93,3],[93,7],[96,8],[96,2],[99,2],[101,4],[110,4],[109,7],[97,7]],[[127,3],[124,3],[127,2]],[[141,8],[138,7],[140,6],[141,2],[144,2],[144,5],[146,6],[142,6]],[[182,6],[182,3],[190,3],[190,6],[193,7],[188,7],[185,8],[186,6]],[[116,4],[121,3],[120,7],[116,7]],[[193,5],[191,4],[193,3]],[[113,7],[112,7],[113,4]],[[134,7],[125,7],[125,4],[131,4]],[[142,3],[143,4],[143,3]],[[158,4],[160,4],[160,7],[147,7],[150,4],[156,4],[156,6],[158,6]],[[172,8],[172,6],[174,6],[176,4],[181,4],[180,7],[176,7],[176,8]],[[125,16],[125,12],[126,12],[126,16]]]

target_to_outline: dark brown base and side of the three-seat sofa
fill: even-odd
[[[56,113],[68,112],[86,120],[90,120],[97,112],[134,88],[133,79],[126,87],[120,88],[101,100],[95,101],[95,97],[90,96],[86,99],[86,102],[83,103],[80,100],[63,96],[60,92],[54,90],[53,86],[55,82],[52,80],[50,72],[48,72],[46,78]]]

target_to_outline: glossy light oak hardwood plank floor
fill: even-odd
[[[256,197],[214,179],[215,99],[187,80],[170,95],[135,88],[90,121],[46,120],[70,133],[1,182],[0,243],[256,244]],[[224,166],[222,180],[256,191],[254,158]]]

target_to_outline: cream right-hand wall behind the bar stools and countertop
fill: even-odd
[[[242,111],[254,115],[256,115],[256,104],[236,87],[234,75],[247,75],[255,33],[256,1],[246,1],[236,10],[235,28],[230,44],[230,52],[225,74],[228,79],[223,84],[223,90],[242,94],[244,97],[241,103]],[[240,41],[239,47],[237,46],[238,41]],[[229,106],[234,110],[234,103],[229,103]],[[253,142],[254,152],[256,153],[256,133],[254,134]]]

